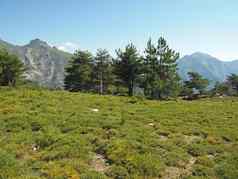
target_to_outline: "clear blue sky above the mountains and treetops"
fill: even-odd
[[[0,38],[64,49],[107,48],[164,36],[181,53],[238,59],[237,0],[0,0]]]

